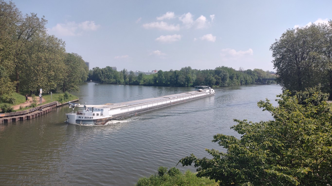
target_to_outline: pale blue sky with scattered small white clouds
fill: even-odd
[[[332,19],[331,0],[12,0],[45,16],[47,33],[93,67],[190,66],[275,71],[271,45],[287,30]]]

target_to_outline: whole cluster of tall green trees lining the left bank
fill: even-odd
[[[64,41],[47,34],[46,23],[0,0],[0,99],[40,88],[75,91],[86,81],[89,69],[82,57],[66,53]]]

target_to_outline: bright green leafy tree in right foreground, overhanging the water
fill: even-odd
[[[220,181],[219,185],[321,185],[332,183],[331,110],[319,92],[290,92],[278,95],[279,106],[267,99],[258,106],[269,111],[274,120],[259,123],[234,120],[231,127],[239,134],[216,134],[212,142],[227,153],[206,149],[212,159],[193,154],[179,163],[194,163],[198,177]],[[303,96],[305,95],[305,96]],[[303,100],[302,98],[305,97]],[[324,97],[324,95],[323,95]],[[305,103],[305,104],[303,104]]]

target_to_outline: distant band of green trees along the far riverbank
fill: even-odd
[[[262,78],[275,77],[262,69],[235,70],[226,66],[216,67],[214,70],[197,70],[190,66],[181,70],[162,71],[156,74],[134,76],[133,71],[113,70],[110,66],[95,67],[89,72],[89,80],[107,84],[146,85],[146,86],[172,86],[190,87],[195,85],[208,85],[213,87],[226,87],[233,85],[246,85],[263,83]]]

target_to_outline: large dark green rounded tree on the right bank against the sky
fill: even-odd
[[[332,21],[289,29],[270,47],[284,90],[304,91],[321,84],[332,98]]]

